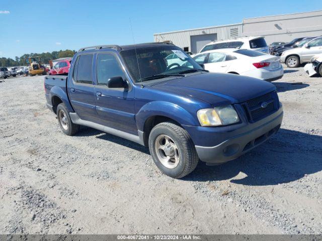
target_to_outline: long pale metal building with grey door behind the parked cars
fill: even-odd
[[[265,36],[268,44],[322,35],[322,11],[244,19],[243,23],[154,34],[154,42],[172,41],[193,53],[211,41]]]

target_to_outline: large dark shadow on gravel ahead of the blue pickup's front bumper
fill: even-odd
[[[296,181],[321,170],[322,137],[281,129],[269,141],[236,160],[220,166],[199,162],[196,170],[183,180],[231,179],[235,184],[265,186]]]

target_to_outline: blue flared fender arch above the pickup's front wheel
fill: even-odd
[[[136,114],[137,129],[143,131],[146,120],[157,115],[171,118],[180,125],[198,126],[199,124],[197,115],[193,116],[183,107],[167,101],[153,101],[144,104]]]

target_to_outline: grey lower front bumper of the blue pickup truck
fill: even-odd
[[[207,163],[225,163],[236,159],[237,157],[247,153],[253,148],[264,143],[275,134],[282,123],[283,108],[262,119],[258,123],[253,123],[234,130],[236,135],[231,136],[231,132],[227,132],[227,139],[216,146],[195,146],[198,157],[201,161]],[[252,129],[250,130],[250,126]],[[213,136],[215,138],[215,135]]]

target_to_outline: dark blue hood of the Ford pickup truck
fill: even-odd
[[[222,73],[194,74],[155,84],[153,88],[192,96],[216,106],[244,102],[276,89],[264,80]]]

